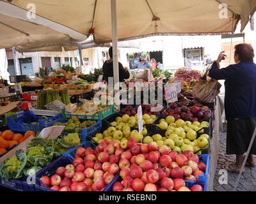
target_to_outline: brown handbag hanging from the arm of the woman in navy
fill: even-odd
[[[218,68],[220,68],[220,64],[217,62]],[[216,96],[220,93],[221,84],[218,80],[211,78],[207,80],[207,73],[211,69],[208,68],[205,72],[204,76],[201,77],[193,87],[193,96],[196,101],[201,103],[212,103]]]

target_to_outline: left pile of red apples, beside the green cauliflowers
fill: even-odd
[[[95,150],[79,147],[72,164],[60,166],[51,178],[43,176],[40,180],[56,191],[102,191],[120,171],[117,163],[122,152],[120,143],[108,140]]]

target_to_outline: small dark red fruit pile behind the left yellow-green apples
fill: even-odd
[[[127,114],[129,116],[134,116],[138,112],[138,107],[140,105],[136,105],[135,108],[132,108],[131,105],[127,105],[125,108],[122,108],[121,113]],[[159,112],[152,112],[151,108],[156,105],[151,104],[141,104],[142,114],[148,114],[148,115],[159,115]]]

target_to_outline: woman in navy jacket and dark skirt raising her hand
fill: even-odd
[[[221,52],[217,61],[227,57]],[[244,153],[247,152],[256,127],[256,64],[253,62],[252,45],[243,43],[235,46],[234,61],[227,68],[218,69],[212,64],[209,77],[225,80],[225,114],[227,118],[227,154],[236,154],[236,163],[224,164],[223,168],[239,173]],[[256,142],[248,156],[246,165],[255,166]],[[244,173],[245,170],[242,170]]]

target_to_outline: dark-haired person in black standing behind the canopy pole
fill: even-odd
[[[103,69],[103,78],[102,80],[105,80],[108,82],[109,77],[113,77],[113,48],[110,47],[108,50],[109,53],[109,60],[105,61],[102,69]],[[118,70],[119,70],[119,82],[124,82],[125,79],[128,79],[130,77],[130,73],[128,71],[129,68],[124,68],[123,65],[118,62]]]

